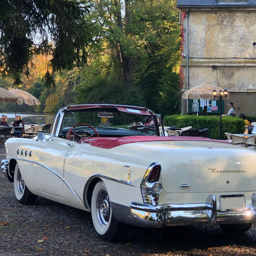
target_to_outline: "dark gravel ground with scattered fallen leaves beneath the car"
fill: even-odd
[[[256,255],[256,226],[233,236],[218,226],[128,227],[120,242],[108,243],[96,235],[90,213],[42,197],[19,204],[0,171],[0,256],[6,255]]]

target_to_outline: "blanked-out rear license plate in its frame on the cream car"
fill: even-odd
[[[221,212],[237,212],[245,210],[244,194],[220,195]]]

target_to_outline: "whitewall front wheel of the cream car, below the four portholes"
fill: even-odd
[[[19,165],[16,164],[14,170],[14,193],[20,204],[34,204],[37,196],[32,194],[27,188],[25,181],[23,180]]]

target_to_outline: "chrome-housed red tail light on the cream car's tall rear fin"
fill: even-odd
[[[158,204],[158,194],[162,191],[162,184],[159,182],[160,174],[160,164],[152,163],[149,165],[140,184],[140,190],[144,204]]]

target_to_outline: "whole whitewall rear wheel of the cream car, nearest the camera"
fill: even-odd
[[[92,192],[92,222],[97,234],[106,241],[116,241],[120,234],[120,224],[110,207],[108,190],[104,182],[96,183]]]

